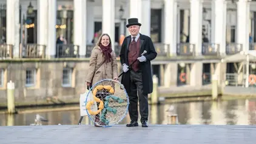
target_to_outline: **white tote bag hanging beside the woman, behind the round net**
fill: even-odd
[[[88,97],[87,97],[88,95]],[[86,98],[87,97],[87,98]],[[97,103],[95,102],[95,100],[93,99],[93,95],[92,95],[92,91],[86,90],[86,93],[80,94],[80,116],[87,116],[87,112],[86,112],[86,104],[87,102],[93,100],[94,103],[91,106],[91,110],[92,111],[97,111]]]

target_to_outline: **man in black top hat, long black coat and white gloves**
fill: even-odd
[[[124,38],[120,51],[120,61],[124,71],[121,83],[129,95],[130,102],[129,115],[131,122],[126,125],[129,127],[138,126],[138,98],[140,99],[141,126],[148,126],[149,106],[147,96],[153,91],[150,61],[157,57],[152,40],[149,36],[139,32],[140,26],[141,24],[137,18],[128,19],[126,27],[131,35]],[[147,53],[141,56],[144,50]],[[128,70],[129,65],[134,61],[136,62]]]

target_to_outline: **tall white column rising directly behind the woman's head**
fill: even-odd
[[[115,50],[115,0],[103,0],[103,33],[112,40],[112,50]]]

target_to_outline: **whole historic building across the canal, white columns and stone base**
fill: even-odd
[[[152,62],[160,85],[202,85],[203,71],[222,70],[220,59],[256,49],[254,11],[256,1],[246,0],[0,0],[0,58],[11,59],[0,64],[0,95],[9,80],[21,97],[79,94],[84,57],[101,33],[110,34],[118,56],[129,18],[139,19],[164,57]]]

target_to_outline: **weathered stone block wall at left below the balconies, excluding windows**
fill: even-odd
[[[62,70],[73,68],[71,87],[62,87]],[[47,97],[58,97],[61,100],[78,98],[86,91],[84,80],[87,76],[89,61],[38,61],[38,62],[0,62],[5,70],[4,86],[0,88],[0,103],[7,102],[7,82],[15,83],[16,102],[36,102]],[[25,87],[27,68],[36,68],[36,85]],[[118,62],[118,70],[121,64]]]

